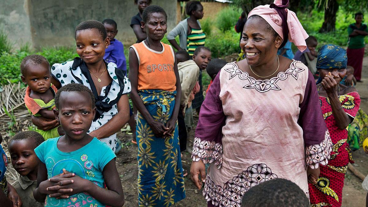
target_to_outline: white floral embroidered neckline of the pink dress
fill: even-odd
[[[290,64],[290,68],[287,69],[285,72],[281,71],[277,74],[276,77],[271,78],[270,80],[256,80],[253,77],[250,77],[247,72],[244,72],[239,69],[238,65],[235,64],[235,62],[227,63],[227,65],[231,66],[229,68],[226,68],[227,72],[230,73],[230,78],[235,77],[238,75],[240,80],[248,80],[250,83],[245,85],[243,88],[247,89],[253,89],[257,90],[258,92],[267,92],[269,90],[276,90],[279,91],[281,88],[276,84],[279,80],[286,80],[287,76],[291,75],[295,78],[295,80],[298,80],[298,73],[301,71],[304,71],[303,68],[296,66],[296,63],[301,63],[300,61],[293,60],[293,62]]]

